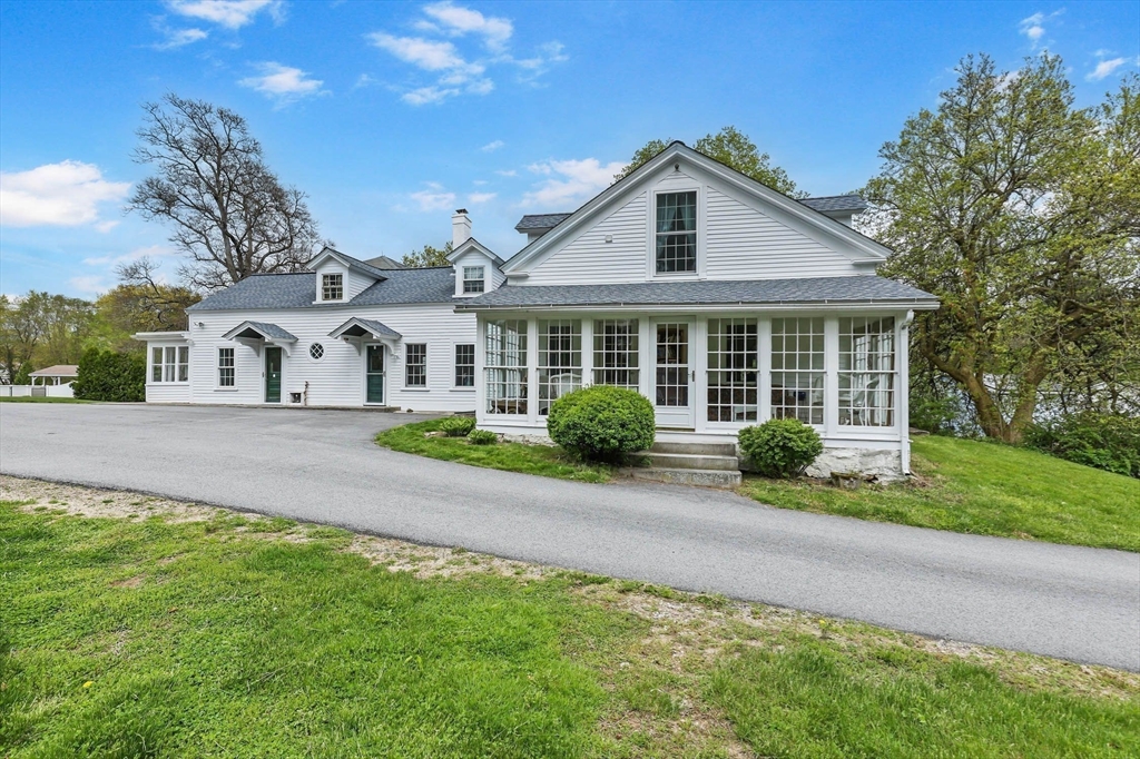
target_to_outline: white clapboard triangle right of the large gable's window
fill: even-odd
[[[858,274],[852,260],[714,187],[708,209],[709,279],[783,279]]]

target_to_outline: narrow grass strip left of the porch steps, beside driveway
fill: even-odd
[[[613,476],[613,467],[577,462],[561,448],[514,442],[472,446],[463,438],[424,438],[425,432],[434,432],[439,429],[439,424],[440,419],[432,419],[392,427],[376,435],[376,443],[405,454],[417,454],[445,462],[540,474],[560,480],[606,482]]]

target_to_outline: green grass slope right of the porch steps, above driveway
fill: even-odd
[[[1100,548],[1140,550],[1140,480],[1024,448],[925,435],[911,447],[917,482],[840,490],[744,480],[781,508]]]

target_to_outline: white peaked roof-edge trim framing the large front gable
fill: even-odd
[[[865,261],[868,263],[880,263],[890,254],[890,250],[888,247],[871,239],[870,237],[855,231],[850,227],[816,211],[815,209],[812,209],[811,206],[799,203],[795,198],[788,197],[783,193],[774,190],[771,187],[756,181],[747,174],[742,174],[732,166],[723,164],[715,158],[710,158],[703,153],[698,153],[684,142],[677,140],[670,142],[668,147],[640,165],[633,172],[610,185],[606,189],[595,195],[591,201],[587,201],[585,205],[575,211],[568,219],[564,219],[554,229],[515,253],[514,256],[512,256],[503,266],[503,271],[510,275],[523,270],[528,263],[539,259],[544,252],[560,244],[562,240],[570,238],[576,231],[579,231],[588,225],[595,217],[601,215],[612,205],[616,205],[618,201],[624,199],[624,194],[628,193],[633,188],[636,188],[646,177],[677,158],[684,158],[716,176],[718,179],[724,181],[726,186],[740,189],[741,191],[750,194],[766,202],[768,205],[783,211],[788,215],[801,221],[805,227],[814,228],[824,235],[842,240],[849,248],[857,251],[862,256],[857,260],[857,262]]]

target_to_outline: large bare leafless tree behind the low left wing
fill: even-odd
[[[170,240],[189,256],[179,274],[192,287],[296,271],[311,258],[318,237],[306,195],[266,166],[242,116],[173,93],[142,109],[133,157],[157,171],[128,207],[173,226]]]

